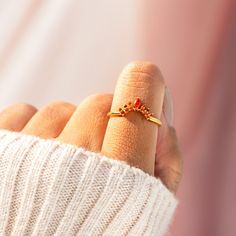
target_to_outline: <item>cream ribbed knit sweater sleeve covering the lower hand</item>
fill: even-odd
[[[0,130],[1,236],[161,236],[176,205],[160,179],[123,161]]]

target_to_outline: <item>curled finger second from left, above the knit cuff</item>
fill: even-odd
[[[52,102],[39,110],[22,130],[25,134],[36,135],[41,138],[56,138],[76,106],[66,102]]]

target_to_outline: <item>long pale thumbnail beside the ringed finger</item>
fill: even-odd
[[[167,124],[169,126],[173,126],[173,124],[174,124],[173,100],[172,100],[170,90],[167,87],[165,88],[163,113],[164,113],[165,119],[167,121]]]

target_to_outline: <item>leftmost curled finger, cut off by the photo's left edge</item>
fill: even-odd
[[[0,129],[19,132],[36,112],[37,108],[32,105],[13,104],[0,113]]]

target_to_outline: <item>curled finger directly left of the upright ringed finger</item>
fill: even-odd
[[[97,94],[86,98],[76,109],[58,139],[91,151],[101,151],[112,97],[111,94]]]

